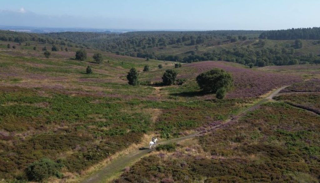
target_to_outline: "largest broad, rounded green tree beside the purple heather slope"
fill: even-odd
[[[233,86],[232,75],[218,68],[199,74],[196,81],[206,93],[216,93],[220,88],[229,91]]]

